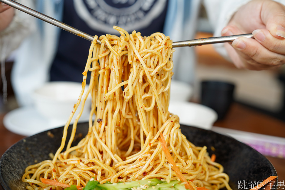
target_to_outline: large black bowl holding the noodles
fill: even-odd
[[[87,134],[88,123],[77,125],[77,134]],[[71,132],[69,128],[69,135]],[[181,126],[182,133],[196,146],[207,146],[209,154],[215,153],[216,162],[224,166],[224,172],[230,177],[232,189],[247,188],[249,181],[258,183],[269,176],[277,176],[273,165],[259,152],[228,136],[191,126]],[[61,143],[63,127],[38,133],[22,139],[11,146],[0,159],[0,180],[5,190],[25,189],[21,177],[28,165],[49,159],[50,152],[55,153]],[[80,136],[80,135],[78,135]],[[82,138],[82,137],[81,137]],[[80,138],[74,141],[74,145]],[[212,150],[210,147],[215,147]],[[277,189],[277,178],[266,189]]]

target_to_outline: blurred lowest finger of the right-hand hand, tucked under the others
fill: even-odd
[[[251,59],[251,57],[244,55],[240,51],[236,51],[234,47],[231,46],[231,44],[227,43],[224,45],[229,54],[229,57],[233,61],[234,65],[239,69],[267,70],[267,69],[276,69],[280,67],[280,65],[271,66],[271,65],[264,65],[264,64],[257,63],[256,61]]]

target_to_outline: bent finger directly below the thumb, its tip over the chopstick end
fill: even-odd
[[[260,44],[270,51],[285,55],[285,39],[275,38],[267,29],[257,29],[252,34]]]

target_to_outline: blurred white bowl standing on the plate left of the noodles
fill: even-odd
[[[76,82],[48,82],[36,89],[33,94],[36,109],[42,116],[54,120],[55,123],[66,122],[77,103],[82,86]],[[83,97],[88,89],[85,87]],[[74,114],[74,118],[80,112],[81,103]],[[81,120],[88,120],[91,109],[91,97],[87,97]],[[73,119],[74,121],[74,119]]]

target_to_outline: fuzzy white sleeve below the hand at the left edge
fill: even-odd
[[[18,0],[19,3],[34,9],[33,0]],[[35,30],[35,19],[15,9],[15,15],[10,25],[0,32],[0,60],[7,58],[18,48],[23,39]]]

